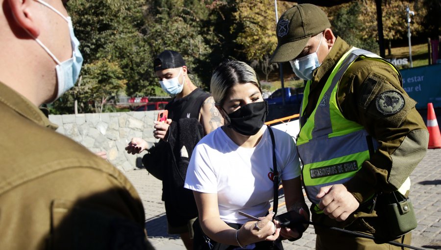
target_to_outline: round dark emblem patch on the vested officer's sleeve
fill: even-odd
[[[399,92],[391,90],[378,94],[375,103],[380,113],[393,115],[403,109],[404,98]]]

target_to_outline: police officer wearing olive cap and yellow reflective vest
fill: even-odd
[[[391,233],[393,214],[383,208],[392,195],[407,202],[409,175],[426,153],[427,129],[399,71],[336,38],[330,27],[318,6],[295,5],[277,23],[271,57],[289,61],[307,81],[297,148],[312,220],[325,226],[315,226],[316,247],[394,247],[326,226],[409,244],[410,233]]]

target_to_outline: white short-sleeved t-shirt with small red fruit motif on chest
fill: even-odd
[[[268,213],[274,195],[272,174],[272,142],[268,127],[254,148],[235,144],[221,129],[203,137],[193,151],[184,187],[201,193],[218,195],[221,220],[244,224],[248,218]],[[300,164],[293,138],[286,132],[272,129],[275,138],[277,170],[283,180],[300,175]]]

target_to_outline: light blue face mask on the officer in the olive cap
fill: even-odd
[[[321,39],[323,39],[323,33],[321,35],[320,43],[316,52],[290,61],[294,74],[303,80],[311,80],[313,77],[313,72],[320,66],[317,51],[319,50]]]

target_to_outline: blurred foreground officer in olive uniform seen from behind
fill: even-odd
[[[83,61],[65,2],[0,0],[0,248],[151,249],[135,188],[38,109]]]

